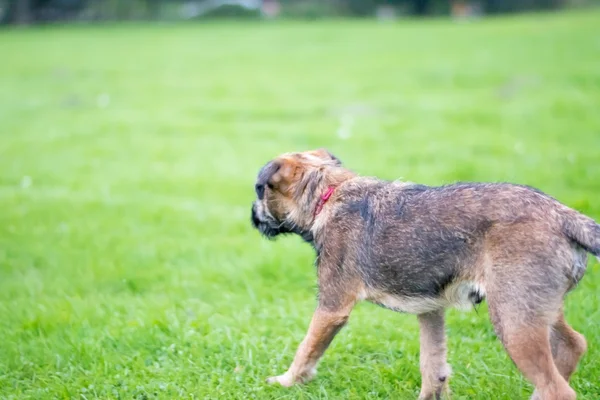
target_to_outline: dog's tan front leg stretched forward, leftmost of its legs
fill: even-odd
[[[316,374],[317,362],[348,321],[351,309],[352,306],[349,306],[331,311],[318,307],[290,368],[283,375],[267,379],[267,382],[289,387],[294,383],[304,383],[312,379]]]

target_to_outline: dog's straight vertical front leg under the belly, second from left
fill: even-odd
[[[421,394],[419,400],[438,400],[449,394],[450,365],[446,363],[444,310],[421,314],[419,318],[421,353]]]

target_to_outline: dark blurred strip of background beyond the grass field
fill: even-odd
[[[558,10],[595,0],[0,0],[0,23],[52,21],[343,18],[452,15],[455,18]]]

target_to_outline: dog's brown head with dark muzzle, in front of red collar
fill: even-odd
[[[252,204],[252,224],[269,239],[297,233],[311,241],[313,211],[340,160],[325,149],[286,153],[268,162],[258,173]]]

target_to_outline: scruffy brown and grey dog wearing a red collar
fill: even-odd
[[[487,298],[495,331],[536,388],[574,399],[569,377],[586,350],[563,297],[600,256],[600,225],[526,186],[428,187],[359,177],[326,150],[265,165],[252,222],[268,238],[296,233],[317,252],[319,301],[288,371],[305,382],[353,306],[368,300],[418,315],[420,399],[448,391],[444,309]]]

